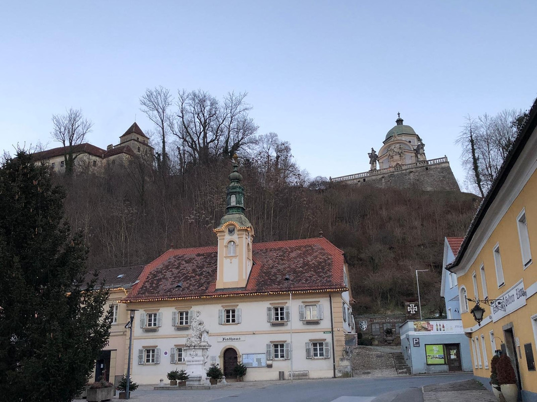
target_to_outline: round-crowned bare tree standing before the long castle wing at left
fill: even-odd
[[[63,156],[66,174],[72,175],[75,169],[75,160],[80,153],[75,153],[75,146],[83,143],[86,135],[91,132],[93,123],[86,119],[82,109],[66,110],[65,114],[52,115],[52,138],[63,145]]]

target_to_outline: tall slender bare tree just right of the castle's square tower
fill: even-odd
[[[168,120],[170,106],[173,104],[173,98],[170,90],[162,87],[146,89],[146,93],[140,98],[141,111],[146,113],[149,120],[153,121],[158,128],[159,141],[162,144],[162,153],[157,155],[158,166],[163,174],[169,170],[169,156],[166,154],[166,135],[168,134]]]

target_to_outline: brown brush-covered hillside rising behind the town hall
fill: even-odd
[[[90,269],[147,263],[169,248],[215,245],[224,213],[230,164],[217,162],[177,176],[146,167],[115,166],[104,176],[56,176],[67,191],[66,215],[85,232]],[[420,291],[431,310],[440,303],[444,236],[465,234],[478,199],[458,192],[377,189],[300,180],[241,167],[246,214],[256,242],[324,236],[350,263],[358,312],[396,311]]]

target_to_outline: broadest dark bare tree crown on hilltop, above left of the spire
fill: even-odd
[[[248,112],[246,94],[230,92],[222,102],[206,91],[179,91],[178,117],[170,121],[172,133],[192,164],[229,159],[240,148],[255,142],[257,126]]]

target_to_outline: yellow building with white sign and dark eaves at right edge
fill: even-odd
[[[500,350],[512,360],[523,401],[537,401],[536,114],[537,102],[448,266],[475,377],[490,387],[490,360]],[[470,313],[476,301],[485,310],[481,325]]]

